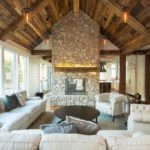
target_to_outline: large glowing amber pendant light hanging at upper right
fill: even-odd
[[[127,23],[129,19],[129,8],[127,7],[127,1],[125,0],[125,6],[122,9],[122,20]]]

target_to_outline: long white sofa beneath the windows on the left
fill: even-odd
[[[17,107],[9,112],[0,113],[0,131],[12,131],[28,128],[46,108],[46,99],[27,99],[27,92],[20,92],[26,97],[26,105]],[[0,98],[1,101],[4,98]]]

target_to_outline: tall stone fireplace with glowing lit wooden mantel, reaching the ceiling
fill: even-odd
[[[52,33],[51,105],[94,105],[94,95],[99,93],[99,25],[82,11],[71,11],[53,26]],[[85,82],[86,91],[66,93],[67,79],[73,83],[83,79],[80,82]]]

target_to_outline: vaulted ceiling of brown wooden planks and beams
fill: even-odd
[[[130,19],[120,19],[125,0],[80,0],[80,9],[95,20],[102,34],[131,53],[150,44],[150,0],[126,0]],[[26,24],[22,12],[26,0],[0,1],[0,40],[11,39],[32,50],[50,33],[51,27],[73,9],[73,0],[30,0],[32,20]]]

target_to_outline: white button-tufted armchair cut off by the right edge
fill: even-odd
[[[150,105],[131,104],[128,117],[128,130],[150,133]]]

